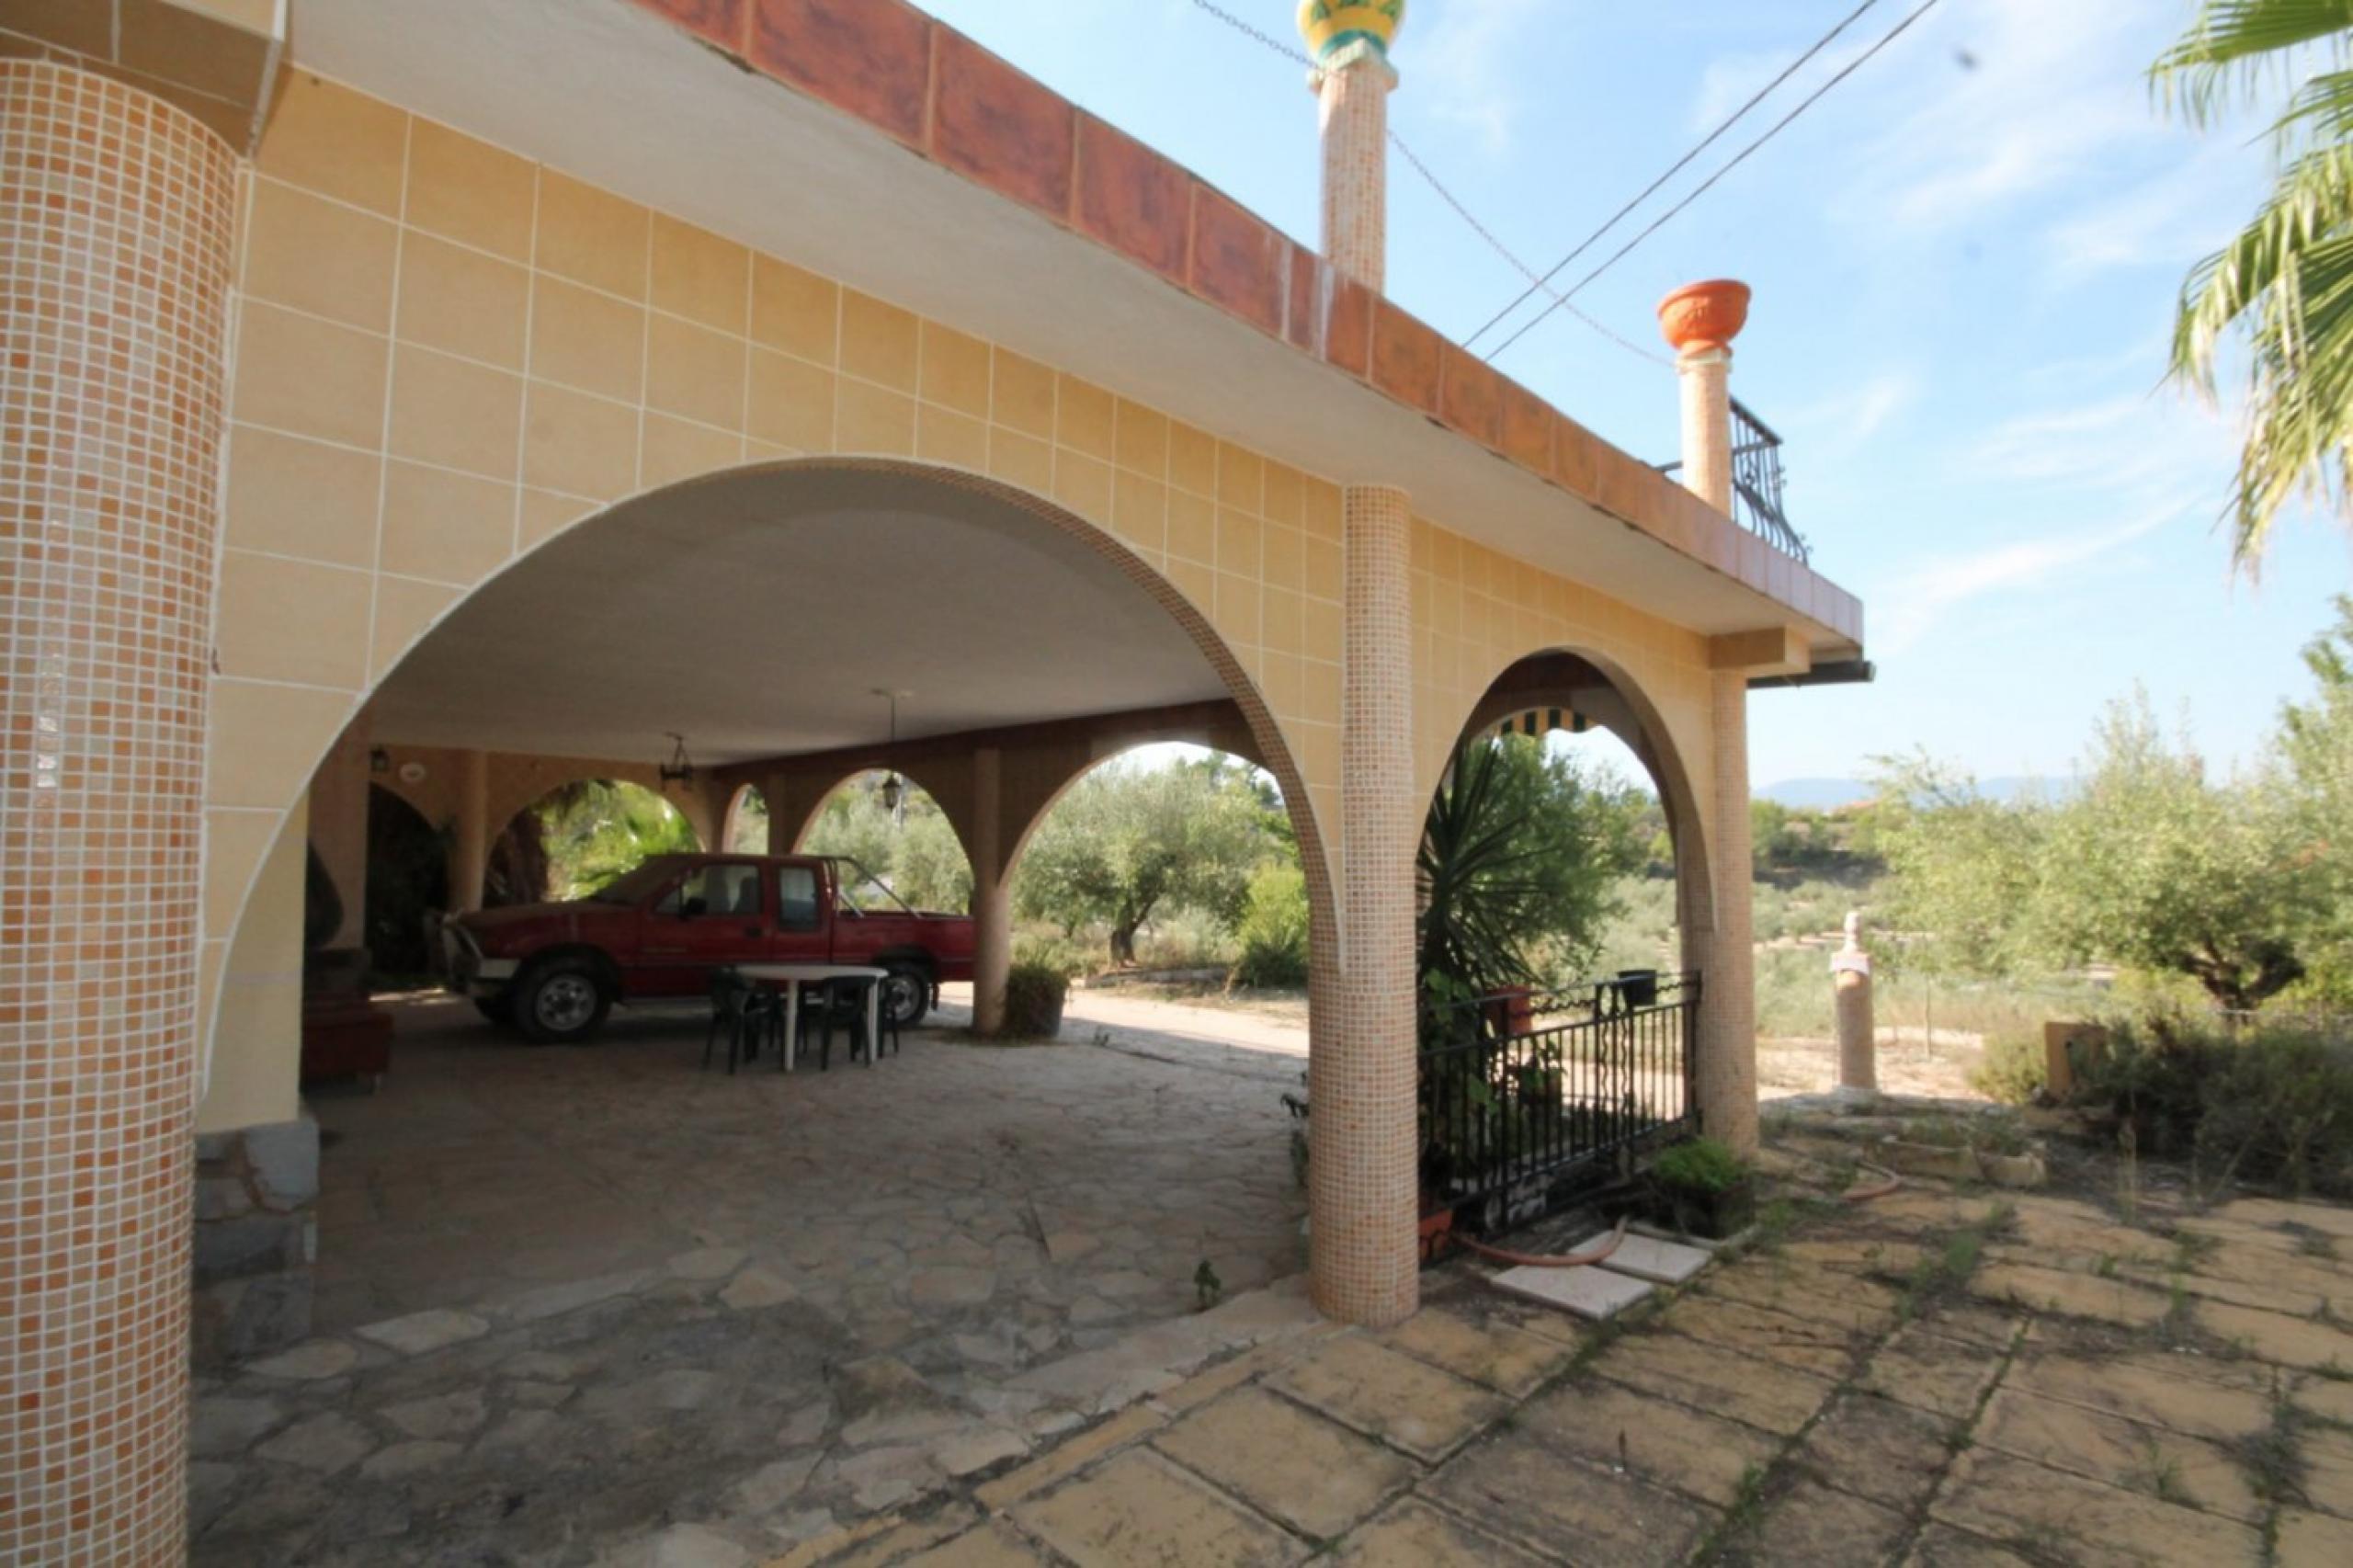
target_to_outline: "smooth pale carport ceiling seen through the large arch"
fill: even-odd
[[[374,735],[696,763],[1224,697],[1092,546],[920,476],[736,471],[576,525],[386,678]]]

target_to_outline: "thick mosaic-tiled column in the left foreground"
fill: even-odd
[[[186,1552],[205,690],[235,162],[0,61],[0,1561]]]

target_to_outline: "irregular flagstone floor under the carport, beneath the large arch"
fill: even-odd
[[[1294,1064],[918,1031],[727,1078],[680,1015],[398,1026],[379,1095],[313,1097],[318,1337],[198,1384],[200,1563],[746,1561],[1315,1321]]]

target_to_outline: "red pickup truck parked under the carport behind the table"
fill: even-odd
[[[532,1041],[586,1041],[614,1003],[706,996],[727,963],[871,963],[913,1024],[941,979],[972,979],[972,918],[908,909],[854,859],[654,855],[586,899],[442,928],[449,984]]]

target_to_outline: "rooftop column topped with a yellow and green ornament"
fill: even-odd
[[[1405,0],[1301,0],[1299,35],[1315,57],[1322,125],[1322,254],[1381,292],[1388,254],[1388,40]]]

